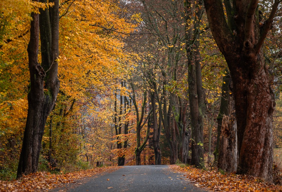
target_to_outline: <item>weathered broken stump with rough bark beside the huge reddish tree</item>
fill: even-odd
[[[232,80],[229,80],[232,91]],[[229,93],[228,93],[229,94]],[[228,115],[223,115],[219,137],[218,168],[228,173],[235,172],[238,165],[237,123],[233,94],[228,98]]]

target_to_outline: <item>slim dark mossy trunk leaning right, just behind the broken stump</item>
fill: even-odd
[[[219,138],[220,138],[220,132],[221,132],[221,126],[222,126],[222,118],[223,115],[229,115],[228,114],[228,98],[229,98],[229,79],[230,75],[228,70],[225,70],[227,73],[223,77],[222,81],[222,88],[221,88],[221,100],[220,100],[220,107],[219,107],[219,113],[217,116],[217,145],[214,150],[214,163],[217,163],[218,159],[218,148],[219,148]]]

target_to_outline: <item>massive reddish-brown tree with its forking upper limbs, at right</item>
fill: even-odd
[[[263,42],[278,9],[275,0],[265,21],[258,0],[204,0],[211,32],[224,55],[233,81],[239,163],[237,174],[271,181],[273,166],[271,89],[273,77],[263,55]]]

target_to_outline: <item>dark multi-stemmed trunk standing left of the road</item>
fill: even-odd
[[[56,62],[56,58],[59,55],[59,1],[50,2],[54,2],[54,6],[50,8],[49,12],[44,11],[40,14],[40,17],[47,23],[39,22],[39,14],[31,14],[30,40],[27,47],[30,90],[27,96],[27,122],[24,130],[17,178],[20,178],[22,174],[26,175],[37,171],[46,119],[53,109],[60,86],[58,63]],[[52,15],[49,20],[47,19],[48,13]],[[45,34],[44,31],[51,31],[51,38],[48,39],[46,37],[47,40],[44,40],[45,36],[41,36],[41,49],[47,50],[41,52],[41,65],[38,63],[39,28],[42,34]],[[50,45],[51,47],[49,47]],[[49,50],[50,55],[46,56],[46,54],[49,54]],[[49,57],[50,60],[48,59]]]

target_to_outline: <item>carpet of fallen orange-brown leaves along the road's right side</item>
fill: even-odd
[[[221,174],[216,170],[205,171],[192,166],[180,167],[178,165],[170,165],[170,168],[177,172],[185,173],[184,176],[197,183],[197,187],[206,187],[211,191],[282,191],[281,186],[264,183],[259,178],[247,175]]]

